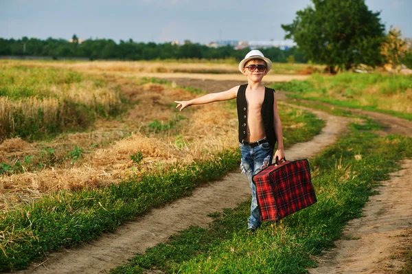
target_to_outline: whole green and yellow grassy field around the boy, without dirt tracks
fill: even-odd
[[[154,207],[190,195],[206,181],[238,171],[235,104],[208,104],[179,113],[173,103],[244,82],[231,74],[237,72],[236,64],[5,60],[0,68],[2,271],[42,262],[46,253],[93,240]],[[311,105],[335,115],[337,106],[346,106],[341,102],[407,119],[411,115],[407,77],[343,75],[329,80],[322,75],[302,78],[296,75],[299,70],[304,74],[309,69],[279,65],[279,71],[288,74],[284,80],[306,79],[289,82],[293,88],[275,80],[268,84],[294,91],[288,93],[291,98],[335,103]],[[266,80],[279,77],[273,73]],[[216,84],[213,78],[226,80]],[[352,97],[342,96],[349,88],[336,82],[349,78],[366,84],[352,84]],[[376,94],[382,101],[369,99]],[[311,101],[299,102],[295,104]],[[287,148],[309,141],[325,126],[301,106],[281,104]],[[209,229],[183,231],[113,272],[195,273],[200,268],[225,273],[241,267],[247,273],[304,273],[314,266],[312,256],[333,246],[346,222],[361,216],[378,181],[398,169],[393,159],[412,156],[409,137],[376,135],[385,128],[364,117],[360,122],[350,111],[340,113],[351,117],[350,130],[311,159],[320,198],[316,206],[279,225],[268,224],[251,238],[242,229],[247,202],[242,203],[212,214],[216,220]],[[267,248],[252,248],[262,244]],[[273,258],[279,259],[269,263]],[[266,270],[254,268],[258,266]]]

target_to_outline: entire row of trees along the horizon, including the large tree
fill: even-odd
[[[411,42],[399,29],[385,32],[380,12],[372,12],[365,0],[312,0],[304,10],[296,12],[292,23],[282,24],[285,38],[297,47],[262,50],[273,62],[313,62],[326,65],[330,73],[370,67],[412,68]],[[23,37],[19,40],[0,38],[0,56],[52,56],[53,58],[89,58],[117,60],[227,59],[241,60],[249,48],[231,46],[208,47],[185,41],[172,43],[136,43],[133,40],[115,43],[111,39],[89,39],[82,43],[75,35],[71,42],[48,38],[45,41]]]

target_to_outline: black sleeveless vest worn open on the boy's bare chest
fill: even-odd
[[[238,120],[239,120],[239,142],[242,143],[246,137],[247,128],[247,100],[246,100],[247,84],[242,84],[239,87],[238,95],[236,97],[236,104],[238,106]],[[273,127],[273,103],[275,101],[275,89],[265,87],[264,100],[262,103],[262,114],[264,131],[266,139],[272,148],[275,148],[276,137],[275,128]]]

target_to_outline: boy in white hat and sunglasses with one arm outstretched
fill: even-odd
[[[261,225],[258,201],[252,176],[272,163],[273,157],[284,159],[282,123],[277,111],[275,90],[264,87],[263,77],[272,68],[272,62],[259,50],[249,52],[239,64],[239,70],[247,76],[247,84],[227,91],[209,93],[189,101],[174,101],[176,109],[183,111],[194,104],[208,104],[236,98],[239,119],[239,143],[242,152],[240,168],[249,179],[252,189],[251,216],[248,229],[255,231]],[[277,141],[277,150],[273,150]]]

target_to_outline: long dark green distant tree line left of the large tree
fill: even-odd
[[[132,39],[116,43],[112,39],[88,39],[79,43],[75,35],[71,41],[65,39],[0,38],[0,56],[52,56],[58,58],[88,58],[89,60],[165,60],[165,59],[226,59],[242,60],[249,48],[234,49],[231,46],[208,47],[185,41],[183,45],[172,43],[142,43]],[[306,62],[297,47],[264,49],[265,56],[273,62]]]

